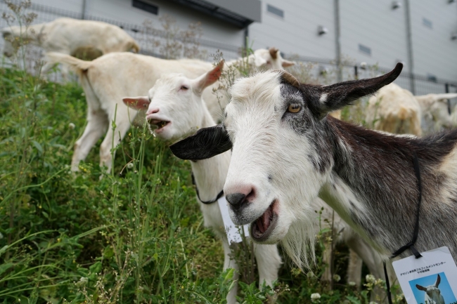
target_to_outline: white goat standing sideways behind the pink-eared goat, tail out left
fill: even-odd
[[[60,53],[48,53],[46,56],[50,63],[60,62],[75,70],[86,93],[88,122],[83,135],[75,143],[72,171],[78,171],[79,161],[86,158],[107,129],[108,132],[100,147],[100,164],[108,167],[108,172],[110,171],[110,150],[124,138],[137,114],[135,110],[127,110],[127,106],[122,103],[122,97],[144,94],[162,74],[183,73],[186,77],[192,78],[200,76],[212,67],[209,62],[201,60],[164,60],[132,53],[110,53],[91,62]],[[281,69],[294,64],[281,58],[279,51],[274,48],[257,50],[250,55],[249,60],[259,70]],[[228,62],[228,65],[237,62],[233,60]],[[214,84],[213,88],[218,86],[219,84]],[[203,98],[212,117],[216,120],[221,118],[221,109],[228,100],[218,100],[217,95],[211,90],[206,90]],[[143,119],[143,115],[139,118]],[[109,126],[114,119],[116,129],[113,133]],[[137,123],[142,124],[142,121]]]

